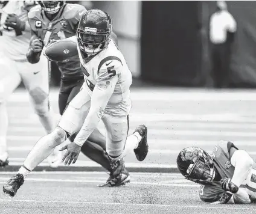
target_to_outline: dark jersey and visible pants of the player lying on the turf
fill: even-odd
[[[217,171],[221,179],[228,177],[232,179],[235,168],[231,165],[229,159],[229,152],[231,147],[235,147],[232,142],[221,141],[214,147],[213,159],[214,159],[214,169]],[[235,147],[236,148],[236,147]],[[251,173],[249,173],[248,178],[240,186],[246,188],[250,196],[253,196],[256,192],[256,176],[255,176],[255,164],[252,167]],[[199,197],[205,202],[214,202],[219,200],[225,191],[222,189],[221,183],[213,181],[208,185],[200,185]],[[250,193],[251,192],[251,193]]]

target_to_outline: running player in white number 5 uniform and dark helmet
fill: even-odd
[[[111,31],[112,20],[107,13],[89,10],[83,14],[77,29],[77,47],[86,75],[85,84],[69,103],[56,129],[37,141],[18,174],[5,183],[6,194],[13,197],[24,183],[24,177],[57,145],[78,132],[74,142],[62,148],[67,150],[63,157],[65,164],[74,164],[100,120],[106,127],[106,152],[114,177],[124,168],[127,148],[133,149],[138,160],[147,156],[146,126],[139,126],[132,137],[127,138],[132,74],[110,38]]]

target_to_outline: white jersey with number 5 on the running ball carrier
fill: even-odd
[[[94,88],[97,80],[111,81],[111,77],[118,75],[114,93],[109,99],[104,112],[114,117],[125,117],[131,108],[130,85],[132,73],[130,72],[123,54],[114,41],[110,40],[106,49],[97,54],[91,61],[85,63],[78,47],[78,54],[85,73],[85,82],[88,87]]]

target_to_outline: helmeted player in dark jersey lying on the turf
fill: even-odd
[[[254,160],[232,142],[220,141],[212,154],[199,147],[184,148],[177,166],[186,179],[201,184],[202,201],[247,204],[256,199]]]

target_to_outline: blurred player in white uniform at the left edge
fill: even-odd
[[[11,93],[24,83],[31,103],[47,133],[56,126],[54,112],[49,108],[48,63],[42,57],[37,64],[27,61],[31,32],[28,11],[34,1],[1,1],[0,25],[0,167],[8,165],[6,102]],[[59,152],[60,154],[60,152]]]

